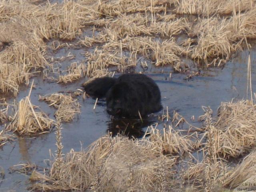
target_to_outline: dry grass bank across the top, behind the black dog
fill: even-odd
[[[139,63],[137,54],[141,52],[152,64],[172,65],[176,72],[184,72],[187,68],[182,62],[184,56],[199,66],[219,66],[239,50],[242,41],[256,38],[255,0],[38,3],[30,0],[0,3],[0,92],[12,92],[16,96],[19,84],[28,84],[29,78],[38,70],[52,67],[47,60],[46,46],[51,39],[71,41],[80,38],[72,46],[99,46],[95,52],[86,54],[88,67],[72,64],[68,74],[59,76],[58,82],[67,83],[84,74],[92,77],[94,71],[111,66],[120,71],[134,67]],[[176,16],[175,13],[198,14],[200,19]],[[93,36],[81,37],[84,36],[83,29],[88,26],[93,26]],[[174,36],[182,33],[188,36],[194,33],[193,41],[185,38],[184,44],[179,46]],[[140,42],[150,37],[161,40]],[[65,43],[52,50],[63,46],[69,45]],[[141,50],[143,47],[145,49]],[[124,53],[122,49],[130,53]]]

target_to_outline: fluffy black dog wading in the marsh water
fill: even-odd
[[[84,86],[94,98],[106,97],[107,112],[122,117],[146,116],[162,109],[158,86],[144,74],[97,78]]]

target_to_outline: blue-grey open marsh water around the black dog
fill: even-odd
[[[58,56],[67,55],[69,52],[77,56],[74,62],[80,60],[81,50],[62,49]],[[145,73],[153,78],[158,84],[162,93],[162,104],[164,107],[169,107],[169,112],[176,110],[179,114],[184,116],[189,122],[191,116],[196,118],[203,114],[201,106],[210,106],[215,114],[220,102],[230,101],[232,98],[246,98],[246,84],[247,84],[247,60],[248,51],[241,52],[236,58],[228,62],[226,66],[221,69],[210,69],[202,72],[200,76],[192,78],[190,81],[184,81],[186,75],[172,74],[172,80],[169,79],[171,72],[170,67],[163,68],[148,68]],[[256,90],[256,47],[250,51],[252,63],[252,85],[253,90]],[[135,69],[136,72],[143,71],[139,66]],[[116,74],[118,76],[118,74]],[[41,109],[54,118],[55,110],[48,107],[44,102],[38,101],[38,96],[50,94],[54,92],[69,92],[80,88],[85,79],[81,79],[75,83],[68,85],[61,85],[56,83],[49,83],[42,80],[39,76],[34,78],[36,88],[32,90],[32,103],[41,107]],[[18,97],[19,101],[28,94],[26,87],[22,88]],[[12,100],[10,98],[10,100]],[[108,130],[113,131],[114,134],[120,129],[121,124],[135,124],[135,126],[142,126],[140,129],[132,129],[130,132],[134,136],[141,136],[144,134],[146,126],[153,122],[158,122],[158,128],[163,128],[164,123],[158,121],[157,116],[162,114],[151,115],[144,124],[139,121],[125,121],[125,120],[110,120],[110,116],[106,113],[106,104],[104,101],[98,102],[95,110],[93,110],[94,100],[87,98],[82,100],[78,97],[81,104],[81,114],[74,119],[72,123],[64,123],[62,129],[62,144],[64,145],[64,153],[71,148],[80,150],[81,143],[85,148],[100,136],[106,134]],[[190,122],[195,126],[201,126],[200,122]],[[118,128],[117,128],[118,125]],[[144,128],[143,128],[144,127]],[[28,178],[18,173],[9,173],[8,168],[16,164],[35,163],[38,166],[46,167],[44,160],[49,159],[49,149],[54,153],[55,134],[54,131],[49,134],[44,134],[39,137],[32,138],[17,138],[14,142],[6,144],[0,150],[0,166],[5,171],[4,180],[0,182],[0,192],[6,191],[27,191],[29,186]]]

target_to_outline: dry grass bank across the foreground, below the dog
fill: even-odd
[[[54,105],[54,102],[52,104]],[[243,131],[248,131],[245,129],[245,122],[250,124],[248,127],[253,127],[255,117],[248,116],[254,112],[254,105],[243,100],[223,103],[217,120],[212,118],[212,110],[209,107],[203,109],[205,114],[201,119],[204,119],[204,127],[198,130],[205,132],[200,134],[194,130],[193,134],[184,135],[182,130],[174,130],[171,126],[161,132],[156,125],[156,127],[150,126],[146,134],[149,136],[145,135],[140,140],[130,140],[120,135],[115,137],[106,135],[86,150],[80,152],[71,150],[66,155],[62,154],[62,120],[61,116],[56,115],[58,128],[55,160],[49,172],[32,173],[30,179],[36,183],[31,189],[212,192],[226,191],[250,181],[255,172],[255,150],[251,146],[251,153],[237,165],[230,164],[232,161],[228,158],[227,160],[220,158],[224,155],[219,151],[228,148],[230,140],[227,141],[227,138],[241,140],[241,136],[244,138],[248,136]],[[163,118],[167,116],[168,113],[163,114]],[[186,122],[177,113],[174,113],[172,119],[176,127]],[[234,129],[236,133],[241,132],[243,135],[234,138],[228,131],[226,131],[228,136],[219,134],[223,132],[222,127],[229,129],[231,134]],[[250,137],[244,140],[249,141],[249,139]],[[238,140],[235,140],[237,146],[240,144]],[[230,146],[234,149],[235,147]],[[195,158],[198,152],[202,156],[200,160]],[[240,153],[242,154],[244,153]],[[232,155],[226,154],[224,157],[230,156]]]

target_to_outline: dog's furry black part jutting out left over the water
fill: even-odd
[[[115,78],[102,77],[82,85],[84,91],[94,98],[104,98],[110,88],[116,83]]]

